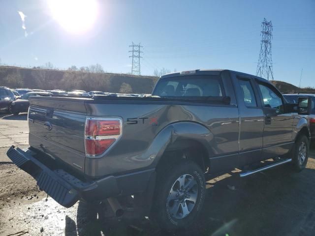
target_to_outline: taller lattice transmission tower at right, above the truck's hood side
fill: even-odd
[[[272,70],[272,58],[271,58],[271,39],[272,39],[272,23],[271,21],[261,22],[261,43],[260,53],[257,64],[256,75],[269,80],[274,80],[274,74]]]

